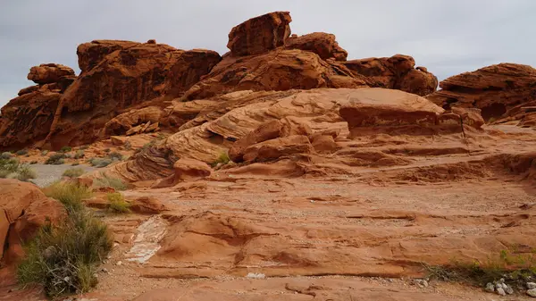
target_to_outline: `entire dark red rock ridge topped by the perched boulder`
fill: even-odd
[[[127,132],[185,130],[236,106],[232,100],[219,104],[231,92],[368,86],[423,95],[435,89],[435,77],[414,69],[409,56],[346,62],[348,53],[334,35],[290,37],[291,21],[289,13],[276,12],[239,24],[230,31],[230,53],[223,58],[155,40],[82,44],[78,78],[59,64],[30,71],[29,79],[39,85],[21,89],[24,98],[3,110],[0,147],[58,149]],[[186,100],[196,102],[180,105]]]

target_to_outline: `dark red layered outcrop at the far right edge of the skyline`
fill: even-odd
[[[536,101],[536,69],[515,63],[500,63],[465,72],[441,81],[440,90],[427,98],[445,109],[479,108],[486,121],[519,113],[520,107]],[[522,115],[517,116],[523,118]]]

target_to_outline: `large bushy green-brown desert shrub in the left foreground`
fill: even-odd
[[[25,244],[17,280],[21,285],[42,284],[49,297],[87,292],[96,286],[98,264],[112,247],[104,222],[88,210],[71,211],[63,222],[46,224]]]

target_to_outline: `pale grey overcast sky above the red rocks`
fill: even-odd
[[[78,69],[76,47],[93,39],[227,52],[242,21],[289,11],[293,33],[330,32],[348,59],[409,54],[440,79],[493,63],[536,66],[536,0],[2,0],[0,106],[29,68]]]

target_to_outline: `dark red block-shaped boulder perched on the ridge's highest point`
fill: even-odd
[[[264,54],[285,44],[290,36],[289,12],[267,13],[230,30],[227,47],[232,55]]]

